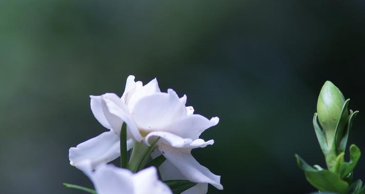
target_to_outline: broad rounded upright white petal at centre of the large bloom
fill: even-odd
[[[141,98],[131,113],[138,128],[146,131],[159,130],[187,115],[185,105],[172,89]]]

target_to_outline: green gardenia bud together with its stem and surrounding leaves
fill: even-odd
[[[330,81],[326,81],[318,97],[318,113],[314,113],[313,127],[328,169],[318,165],[314,165],[313,168],[295,155],[299,168],[304,171],[308,182],[318,189],[319,193],[365,194],[361,180],[352,182],[353,170],[361,156],[357,146],[349,147],[350,160],[345,162],[347,139],[352,121],[358,113],[352,110],[348,113],[349,101],[350,99],[345,101],[341,91]]]

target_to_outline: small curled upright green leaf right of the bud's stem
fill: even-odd
[[[339,169],[339,174],[341,175],[341,178],[347,177],[347,175],[354,170],[357,162],[359,162],[360,156],[360,149],[352,144],[350,146],[350,161],[342,163]]]

